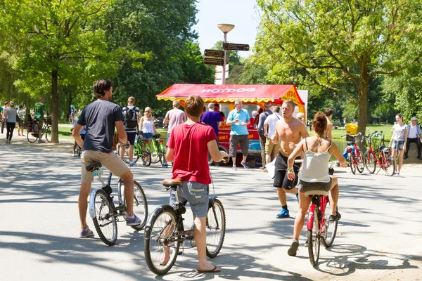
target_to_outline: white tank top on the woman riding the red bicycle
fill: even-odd
[[[306,139],[305,139],[306,141]],[[330,176],[328,175],[328,161],[330,161],[330,153],[328,150],[331,144],[324,152],[312,152],[307,150],[303,157],[302,166],[298,173],[300,181],[307,183],[328,183]]]

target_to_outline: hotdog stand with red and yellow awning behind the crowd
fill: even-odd
[[[218,103],[221,112],[227,117],[231,110],[234,110],[235,100],[242,100],[243,108],[248,110],[251,118],[249,131],[249,154],[260,155],[260,136],[257,129],[254,128],[252,111],[264,109],[264,103],[271,102],[271,105],[283,104],[283,100],[293,100],[297,112],[305,112],[305,103],[298,94],[294,85],[214,85],[214,84],[174,84],[156,97],[158,100],[179,100],[181,106],[184,106],[184,100],[189,96],[201,96],[204,105],[207,103]],[[229,152],[230,126],[222,122],[219,126],[219,148]]]

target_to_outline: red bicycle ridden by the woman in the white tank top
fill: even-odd
[[[330,221],[331,205],[328,192],[325,190],[310,190],[305,196],[312,197],[312,204],[308,209],[307,242],[309,244],[309,261],[312,266],[318,264],[320,244],[331,247],[337,232],[338,221]],[[338,207],[335,209],[338,211]]]

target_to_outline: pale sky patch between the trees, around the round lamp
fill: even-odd
[[[252,49],[260,21],[256,0],[198,0],[196,8],[198,23],[193,26],[193,30],[198,32],[202,53],[224,39],[224,33],[217,27],[220,23],[235,25],[234,30],[227,33],[227,41],[249,44],[250,50]],[[239,51],[243,58],[250,53],[251,51]]]

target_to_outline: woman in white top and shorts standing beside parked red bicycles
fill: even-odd
[[[406,141],[407,141],[407,125],[403,122],[403,117],[401,114],[396,115],[397,123],[392,126],[392,137],[390,141],[389,148],[392,148],[392,159],[396,159],[397,150],[399,151],[399,164],[396,165],[397,171],[395,175],[399,176],[400,170],[403,165],[403,153],[406,150]]]

